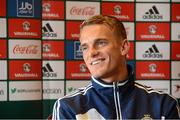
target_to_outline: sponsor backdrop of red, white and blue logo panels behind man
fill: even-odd
[[[124,23],[136,81],[180,103],[179,8],[179,0],[0,0],[0,119],[47,118],[55,100],[90,83],[79,25],[97,14]]]

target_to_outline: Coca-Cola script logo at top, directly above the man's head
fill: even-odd
[[[84,7],[78,8],[73,6],[70,10],[71,15],[94,15],[95,14],[95,7]]]

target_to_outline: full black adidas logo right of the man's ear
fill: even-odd
[[[159,52],[155,44],[152,45],[148,50],[143,54],[143,58],[162,58],[163,55]]]

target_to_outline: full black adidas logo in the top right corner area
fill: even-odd
[[[143,15],[143,19],[163,19],[163,16],[160,15],[157,7],[154,5]]]

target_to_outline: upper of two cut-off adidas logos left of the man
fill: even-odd
[[[54,32],[54,30],[52,29],[49,23],[46,23],[42,27],[42,36],[43,37],[57,37],[57,33]]]

